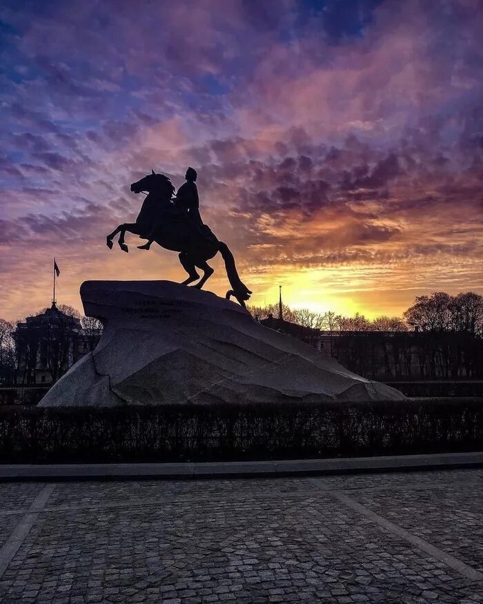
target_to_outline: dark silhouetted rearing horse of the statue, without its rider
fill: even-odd
[[[179,252],[179,262],[188,273],[188,279],[183,284],[188,285],[197,281],[195,287],[201,289],[206,281],[213,275],[213,269],[206,262],[213,258],[218,252],[221,253],[225,261],[226,274],[232,289],[226,293],[226,298],[233,295],[238,302],[245,306],[245,301],[250,298],[252,293],[240,279],[235,259],[228,246],[217,240],[217,237],[210,231],[208,226],[204,226],[206,233],[196,231],[186,220],[186,215],[173,204],[171,197],[175,191],[170,179],[164,174],[157,174],[152,170],[141,180],[133,182],[131,185],[133,193],[147,192],[141,211],[136,222],[125,222],[119,224],[112,233],[107,236],[106,244],[112,249],[112,240],[119,235],[119,247],[128,252],[128,246],[124,243],[124,235],[134,233],[144,239],[153,233],[153,239],[164,249]],[[203,271],[201,279],[196,269]]]

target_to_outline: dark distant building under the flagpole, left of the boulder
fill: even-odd
[[[92,350],[92,334],[87,335],[80,320],[58,309],[55,302],[19,322],[14,342],[17,384],[52,384]]]

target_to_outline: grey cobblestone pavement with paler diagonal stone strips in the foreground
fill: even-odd
[[[483,601],[483,470],[0,485],[0,602]]]

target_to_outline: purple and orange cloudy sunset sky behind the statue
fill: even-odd
[[[183,280],[106,247],[151,166],[197,169],[253,304],[483,293],[482,39],[483,0],[2,0],[0,317],[50,304],[54,255],[79,310],[84,280]]]

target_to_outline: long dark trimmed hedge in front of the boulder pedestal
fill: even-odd
[[[1,463],[266,460],[483,449],[483,399],[0,407]]]

